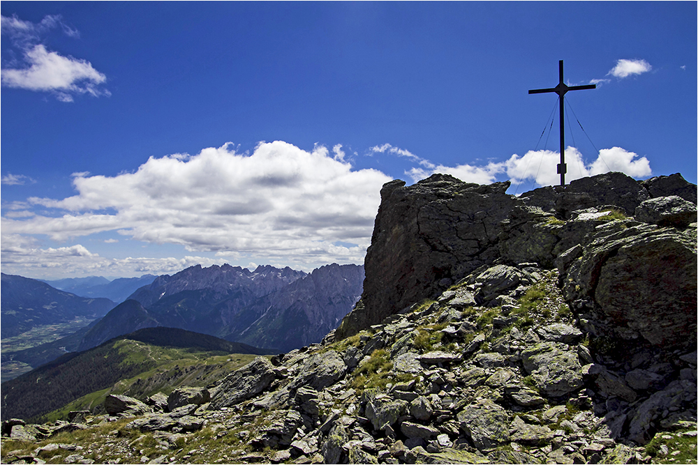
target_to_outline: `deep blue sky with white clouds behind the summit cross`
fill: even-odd
[[[390,179],[558,182],[560,59],[568,182],[696,182],[695,2],[0,9],[3,273],[362,263]]]

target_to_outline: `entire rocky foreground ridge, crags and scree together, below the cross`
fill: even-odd
[[[107,415],[3,422],[3,463],[696,463],[696,186],[381,191],[320,344]]]

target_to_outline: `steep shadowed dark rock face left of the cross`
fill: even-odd
[[[498,257],[497,236],[516,199],[510,183],[479,185],[434,174],[414,185],[392,181],[366,252],[364,311],[352,312],[339,337],[431,297]]]

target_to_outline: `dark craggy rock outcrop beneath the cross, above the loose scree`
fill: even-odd
[[[385,184],[364,292],[336,337],[436,298],[478,268],[535,263],[558,268],[565,298],[590,330],[695,344],[695,185],[681,174],[635,181],[607,173],[521,197],[507,195],[508,186],[444,174]]]

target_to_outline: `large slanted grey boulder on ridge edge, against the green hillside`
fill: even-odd
[[[211,399],[209,410],[232,406],[251,399],[267,389],[275,377],[274,365],[267,358],[257,357],[248,365],[225,376],[218,392]]]

